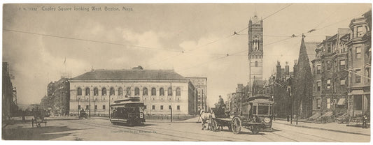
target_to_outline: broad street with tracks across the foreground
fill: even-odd
[[[196,120],[197,121],[197,118]],[[148,121],[143,126],[113,125],[108,119],[55,119],[47,127],[31,128],[31,123],[15,123],[3,130],[3,139],[83,140],[83,141],[201,141],[201,142],[370,142],[370,135],[300,128],[274,123],[272,131],[239,135],[227,130],[201,130],[201,123]],[[367,129],[369,130],[369,129]]]

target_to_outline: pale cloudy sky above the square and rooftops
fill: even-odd
[[[43,6],[96,6],[102,11],[43,11]],[[121,11],[104,11],[105,6]],[[133,10],[122,11],[123,6]],[[316,29],[307,33],[305,41],[321,42],[325,36],[337,33],[337,28],[348,28],[353,17],[371,9],[370,3],[285,6],[288,4],[5,5],[3,29],[29,33],[3,31],[3,61],[10,63],[15,76],[13,85],[17,87],[19,104],[40,102],[48,82],[57,81],[64,73],[66,57],[66,70],[72,77],[91,68],[135,66],[174,69],[184,77],[207,77],[207,97],[213,105],[219,95],[226,97],[237,84],[247,84],[248,57],[242,51],[248,49],[245,28],[255,10],[258,17],[271,15],[263,21],[263,76],[268,78],[276,61],[281,61],[282,66],[289,61],[293,66],[298,57],[301,37],[283,40],[284,36]],[[31,7],[38,10],[23,10]],[[241,29],[245,29],[240,33],[243,35],[227,38]],[[235,52],[242,53],[219,59]]]

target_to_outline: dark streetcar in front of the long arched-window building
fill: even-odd
[[[110,121],[113,124],[143,125],[145,115],[143,114],[144,105],[139,97],[129,97],[115,100],[110,105]]]

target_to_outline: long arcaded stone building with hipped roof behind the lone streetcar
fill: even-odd
[[[144,101],[145,114],[195,114],[196,91],[190,79],[174,70],[92,70],[70,79],[70,113],[87,109],[107,116],[114,100],[129,96]],[[110,100],[110,101],[109,101]]]

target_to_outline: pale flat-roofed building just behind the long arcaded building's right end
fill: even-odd
[[[195,86],[197,89],[197,100],[196,100],[196,107],[197,110],[207,109],[207,77],[185,77],[189,79],[190,82]],[[216,96],[218,97],[218,96]]]

